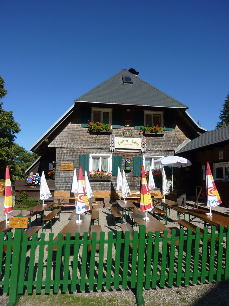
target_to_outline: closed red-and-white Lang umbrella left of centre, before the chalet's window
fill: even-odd
[[[79,181],[78,181],[78,194],[77,194],[77,202],[76,202],[76,213],[79,215],[79,220],[76,220],[76,223],[81,223],[80,215],[85,211],[90,210],[86,186],[83,177],[82,167],[79,168]]]

